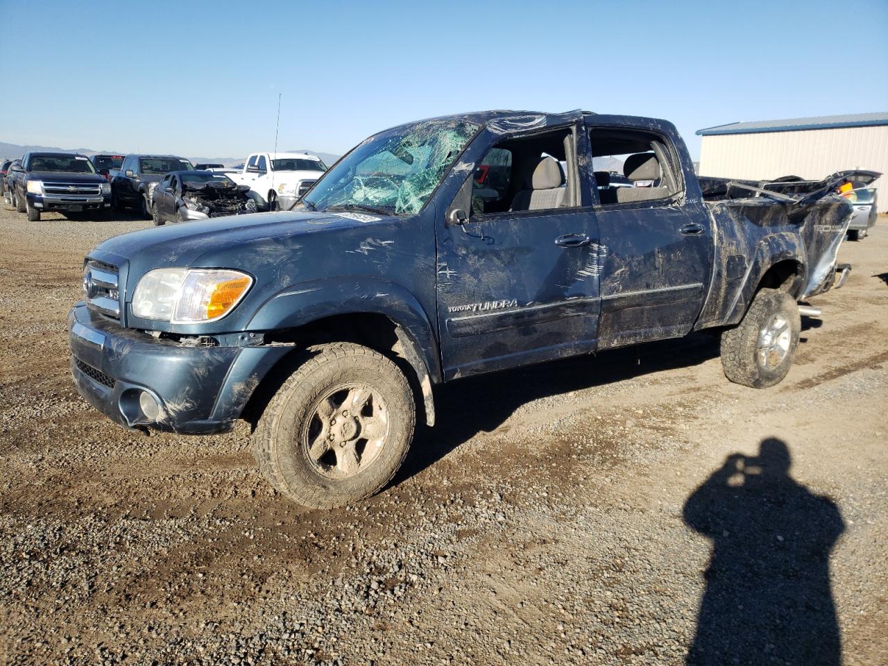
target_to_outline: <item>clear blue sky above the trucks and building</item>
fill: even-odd
[[[242,156],[343,153],[488,108],[702,127],[888,110],[888,1],[0,0],[0,141]],[[12,83],[12,85],[10,85]]]

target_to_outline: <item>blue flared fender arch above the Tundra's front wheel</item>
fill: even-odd
[[[416,346],[432,381],[440,382],[438,344],[432,323],[416,296],[400,284],[375,276],[335,277],[299,282],[261,305],[248,331],[294,329],[337,314],[383,314]]]

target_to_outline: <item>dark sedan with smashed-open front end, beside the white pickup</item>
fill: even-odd
[[[172,171],[155,187],[152,218],[155,225],[195,219],[245,215],[267,210],[250,186],[238,185],[213,171]]]

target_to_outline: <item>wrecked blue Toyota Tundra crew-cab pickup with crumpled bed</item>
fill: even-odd
[[[636,186],[592,170],[607,155],[626,155]],[[710,178],[704,194],[654,118],[408,123],[353,148],[296,210],[101,243],[68,317],[71,370],[127,428],[248,419],[274,488],[353,503],[392,479],[417,419],[434,423],[441,382],[711,329],[730,380],[777,384],[797,302],[837,283],[851,175]]]

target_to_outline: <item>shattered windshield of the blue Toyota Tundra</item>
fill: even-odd
[[[432,120],[370,137],[318,181],[305,206],[419,212],[479,125]]]

